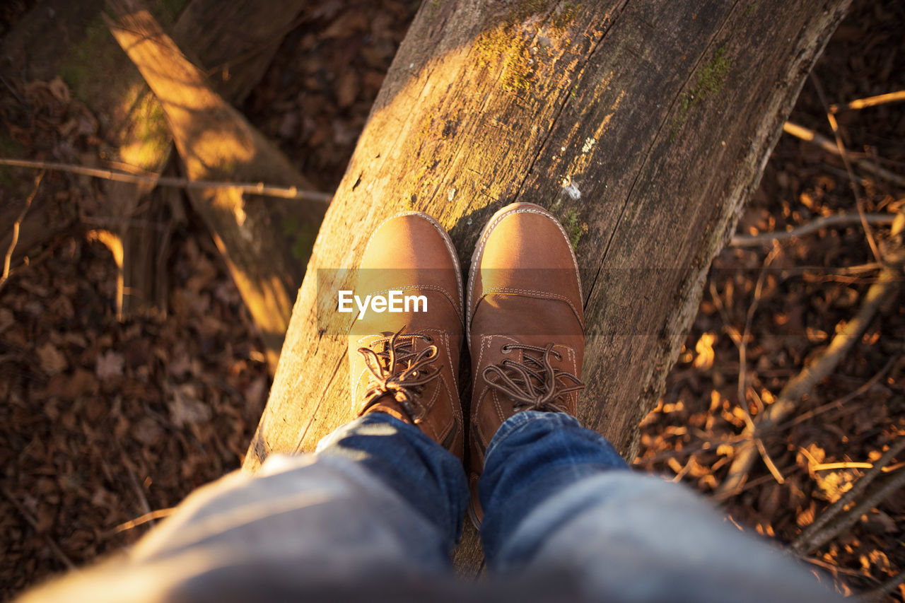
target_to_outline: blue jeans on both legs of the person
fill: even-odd
[[[124,557],[34,600],[841,600],[689,489],[629,470],[571,416],[512,416],[485,459],[489,580],[452,576],[462,464],[414,426],[370,414],[315,455],[274,456],[199,489]]]

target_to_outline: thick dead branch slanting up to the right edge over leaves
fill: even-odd
[[[829,375],[843,359],[854,343],[861,338],[864,330],[873,319],[874,313],[880,307],[887,295],[898,286],[899,271],[891,268],[883,268],[877,281],[874,282],[864,295],[861,307],[851,321],[836,326],[836,335],[823,351],[821,351],[804,369],[782,388],[776,401],[767,407],[767,410],[757,416],[755,433],[748,433],[750,440],[738,445],[736,457],[729,465],[729,474],[717,489],[718,498],[727,498],[744,485],[748,478],[748,471],[754,464],[757,456],[757,445],[754,443],[756,434],[767,433],[773,430],[779,423],[786,420],[795,411],[798,400],[814,388],[814,386]],[[746,432],[748,429],[746,428]]]

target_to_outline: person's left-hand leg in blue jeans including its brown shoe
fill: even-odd
[[[351,422],[316,455],[274,457],[254,477],[236,473],[200,489],[127,559],[39,597],[216,600],[241,592],[269,600],[449,576],[468,498],[458,260],[433,218],[406,213],[376,229],[359,267],[357,293],[405,291],[425,304],[356,321]]]

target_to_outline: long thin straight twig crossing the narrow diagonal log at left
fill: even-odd
[[[263,182],[221,182],[214,180],[188,180],[171,176],[142,176],[129,174],[113,169],[85,168],[69,163],[55,163],[52,161],[31,161],[28,159],[0,158],[0,166],[12,166],[14,168],[53,169],[70,174],[80,174],[114,180],[116,182],[130,182],[132,184],[150,184],[157,187],[176,188],[234,188],[246,195],[275,196],[282,199],[301,199],[316,203],[329,203],[333,198],[329,193],[319,193],[310,190],[300,190],[297,187],[274,187]]]

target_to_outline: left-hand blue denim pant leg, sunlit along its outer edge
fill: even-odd
[[[316,455],[273,455],[191,493],[126,554],[24,601],[346,600],[452,579],[462,463],[414,426],[361,417]]]

